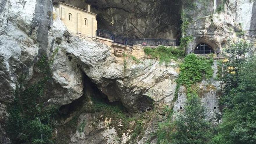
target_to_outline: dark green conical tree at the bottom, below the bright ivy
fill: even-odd
[[[184,113],[175,120],[170,134],[170,144],[206,144],[211,139],[211,125],[205,120],[205,109],[197,95],[192,95],[186,102]]]

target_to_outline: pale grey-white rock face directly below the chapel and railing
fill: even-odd
[[[15,91],[29,88],[40,77],[42,71],[36,63],[42,55],[52,61],[53,81],[47,92],[49,99],[46,104],[61,106],[81,97],[84,93],[83,73],[110,102],[121,102],[130,113],[151,110],[155,102],[172,102],[176,86],[174,79],[178,75],[176,62],[166,66],[152,59],[142,58],[140,63],[136,63],[131,58],[115,57],[107,45],[70,35],[61,20],[52,17],[56,13],[48,1],[6,0],[1,7],[0,138],[4,143],[10,143],[2,127],[8,119],[7,105],[13,102]],[[93,114],[83,113],[80,117],[95,120]],[[102,124],[99,122],[98,127],[104,128]],[[106,143],[114,143],[115,131],[109,127],[96,133],[102,138],[112,135]],[[76,138],[83,139],[79,136],[73,133],[70,143],[79,143]],[[129,135],[123,137],[120,141],[125,143]],[[94,138],[89,136],[89,139]],[[81,143],[86,141],[87,138]]]

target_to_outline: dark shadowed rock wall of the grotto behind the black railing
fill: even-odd
[[[85,8],[82,0],[64,0],[79,8]],[[97,14],[98,28],[113,31],[129,38],[176,39],[180,31],[179,0],[87,0],[91,11]],[[110,22],[114,20],[114,25]]]

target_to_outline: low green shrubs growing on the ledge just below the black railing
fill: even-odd
[[[158,58],[159,63],[170,63],[171,59],[177,60],[185,56],[185,51],[180,49],[174,49],[173,47],[159,46],[155,49],[145,48],[144,52],[151,58]]]

